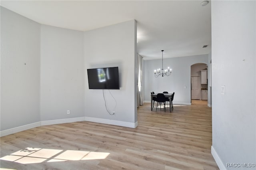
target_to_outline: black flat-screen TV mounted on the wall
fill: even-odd
[[[120,89],[118,67],[87,69],[89,89]]]

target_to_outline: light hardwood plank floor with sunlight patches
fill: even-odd
[[[168,110],[168,108],[166,109]],[[174,111],[138,109],[138,127],[92,122],[32,128],[1,137],[0,167],[17,170],[218,170],[207,101]]]

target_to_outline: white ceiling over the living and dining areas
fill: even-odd
[[[145,60],[208,54],[211,4],[198,0],[1,0],[1,6],[40,24],[88,31],[137,21],[137,51]],[[202,48],[203,45],[208,45]]]

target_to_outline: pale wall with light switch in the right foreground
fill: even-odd
[[[256,163],[255,11],[255,1],[212,1],[212,153],[221,169]]]

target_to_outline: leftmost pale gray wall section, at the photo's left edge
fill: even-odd
[[[39,103],[40,24],[1,6],[0,130],[40,121]]]

